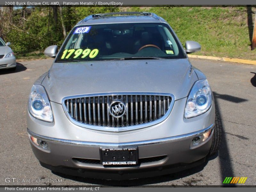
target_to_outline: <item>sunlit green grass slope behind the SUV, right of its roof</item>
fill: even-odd
[[[127,11],[154,12],[164,18],[183,46],[187,40],[201,44],[196,55],[256,60],[256,50],[250,47],[247,7],[131,7]]]

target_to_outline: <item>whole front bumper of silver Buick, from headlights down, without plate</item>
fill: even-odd
[[[79,127],[68,120],[61,104],[51,102],[54,116],[52,123],[40,121],[29,112],[27,115],[29,135],[46,141],[49,149],[36,146],[31,139],[30,143],[36,158],[44,167],[77,176],[123,180],[150,177],[152,169],[158,170],[156,174],[181,171],[195,162],[202,163],[209,153],[215,118],[212,101],[207,112],[185,119],[186,101],[187,98],[176,100],[170,115],[159,124],[115,133]],[[191,145],[194,137],[210,130],[212,132],[207,140],[197,146]],[[137,146],[140,163],[136,166],[109,167],[99,163],[100,147]],[[183,168],[180,164],[184,165]],[[162,169],[166,171],[159,171]]]

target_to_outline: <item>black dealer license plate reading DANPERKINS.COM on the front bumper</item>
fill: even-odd
[[[102,165],[120,166],[139,163],[139,149],[134,148],[100,148],[100,163]]]

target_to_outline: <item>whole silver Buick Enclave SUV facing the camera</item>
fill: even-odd
[[[124,180],[181,171],[220,145],[204,74],[154,13],[95,14],[79,21],[28,100],[36,158],[55,172]],[[216,123],[215,123],[216,122]]]

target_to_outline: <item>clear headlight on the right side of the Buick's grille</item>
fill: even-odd
[[[212,91],[207,79],[196,81],[187,100],[185,118],[205,113],[212,105]]]

